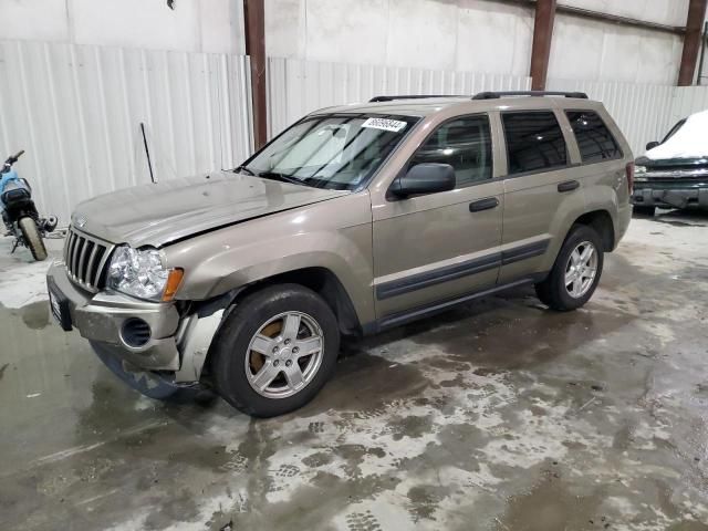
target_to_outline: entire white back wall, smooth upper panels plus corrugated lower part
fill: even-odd
[[[375,94],[527,88],[533,9],[497,0],[266,0],[271,134]],[[688,0],[562,0],[670,27]],[[6,0],[0,149],[40,207],[232,167],[252,149],[242,0]],[[707,87],[676,87],[681,38],[556,14],[548,88],[603,101],[636,154]],[[708,61],[707,61],[708,62]],[[706,80],[708,82],[708,79]]]

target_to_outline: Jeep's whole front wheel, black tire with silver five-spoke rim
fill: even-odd
[[[310,402],[334,372],[340,330],[330,306],[298,284],[248,295],[214,339],[217,392],[237,409],[274,417]]]

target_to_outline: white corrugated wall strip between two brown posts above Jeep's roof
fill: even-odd
[[[271,136],[278,134],[317,108],[366,102],[375,95],[475,94],[481,91],[523,91],[530,86],[530,77],[517,75],[270,58],[269,132]]]

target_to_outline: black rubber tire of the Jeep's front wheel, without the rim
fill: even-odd
[[[301,312],[316,322],[322,331],[322,358],[303,388],[292,396],[272,398],[257,393],[249,383],[246,356],[251,355],[249,344],[259,329],[284,312]],[[209,352],[209,368],[216,391],[226,402],[253,417],[274,417],[314,398],[332,376],[339,350],[339,325],[326,302],[302,285],[277,284],[248,295],[226,317]]]

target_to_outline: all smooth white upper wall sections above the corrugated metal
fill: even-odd
[[[7,0],[2,38],[243,54],[242,0]],[[532,4],[513,0],[266,0],[267,54],[353,64],[528,75]],[[688,0],[562,0],[669,27]],[[549,77],[674,84],[680,35],[555,18]]]

